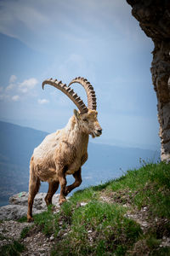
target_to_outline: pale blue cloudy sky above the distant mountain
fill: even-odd
[[[154,45],[125,0],[1,0],[0,120],[54,132],[77,108],[44,79],[88,79],[103,134],[92,140],[160,148],[150,66]],[[72,88],[87,103],[80,84]]]

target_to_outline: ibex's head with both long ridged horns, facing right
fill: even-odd
[[[77,96],[77,93],[75,93],[74,90],[69,87],[73,83],[82,84],[82,86],[86,90],[88,96],[88,108],[86,107],[84,102],[82,102],[81,98]],[[69,86],[66,86],[66,84],[62,84],[62,82],[57,81],[57,79],[48,79],[43,81],[42,89],[44,87],[44,84],[53,85],[55,88],[63,91],[65,95],[68,96],[71,101],[77,105],[79,111],[75,109],[74,114],[77,118],[78,125],[84,133],[90,134],[92,137],[99,137],[101,135],[102,129],[97,119],[98,112],[96,111],[97,104],[94,87],[88,82],[87,79],[83,79],[80,77],[73,79]]]

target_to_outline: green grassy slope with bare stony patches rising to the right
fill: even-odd
[[[143,165],[35,216],[52,255],[170,255],[170,164]],[[29,235],[29,230],[28,230]],[[25,235],[27,236],[27,235]]]

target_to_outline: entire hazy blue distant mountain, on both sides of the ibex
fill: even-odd
[[[47,132],[0,121],[0,206],[8,197],[28,190],[29,162],[33,149],[47,136]],[[138,168],[139,159],[156,162],[159,152],[140,148],[119,148],[105,144],[89,143],[88,161],[82,166],[82,185],[104,183],[121,176],[128,169]],[[73,181],[67,178],[68,183]],[[46,192],[48,183],[42,183]]]

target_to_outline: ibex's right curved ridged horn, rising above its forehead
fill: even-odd
[[[92,84],[90,84],[87,79],[84,79],[81,77],[73,79],[71,81],[71,83],[69,84],[69,86],[73,83],[82,84],[82,86],[86,90],[86,93],[88,96],[88,108],[96,110],[96,108],[97,108],[96,96],[95,96],[95,91],[94,91],[94,87],[92,86]]]

